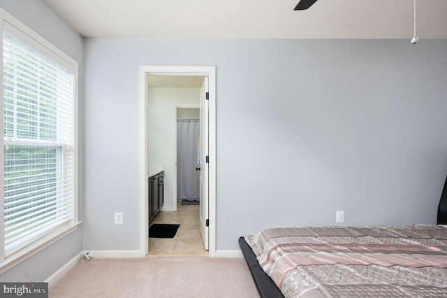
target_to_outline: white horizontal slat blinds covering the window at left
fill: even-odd
[[[5,257],[74,218],[74,73],[3,30]]]

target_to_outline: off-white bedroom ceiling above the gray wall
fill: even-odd
[[[413,0],[45,0],[82,36],[407,38]],[[447,39],[447,0],[417,0],[420,40]]]

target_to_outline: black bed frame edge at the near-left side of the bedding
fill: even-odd
[[[258,260],[256,260],[256,255],[253,253],[253,250],[251,250],[247,242],[245,242],[244,237],[239,238],[239,246],[245,261],[247,261],[247,265],[250,269],[251,276],[253,276],[259,295],[262,298],[284,298],[277,285],[274,284],[272,279],[265,274],[259,265]]]

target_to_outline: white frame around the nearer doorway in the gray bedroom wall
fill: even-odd
[[[147,76],[207,76],[209,78],[209,243],[210,257],[216,257],[216,66],[140,66],[140,255],[149,248],[149,216],[147,204]]]

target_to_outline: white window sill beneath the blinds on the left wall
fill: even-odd
[[[36,255],[36,253],[43,250],[44,248],[52,245],[52,243],[55,243],[56,241],[64,238],[64,236],[75,231],[80,223],[81,222],[73,222],[68,225],[64,225],[63,227],[59,227],[59,229],[56,229],[54,232],[48,234],[42,239],[31,244],[30,246],[27,246],[17,253],[10,255],[3,262],[0,263],[0,274],[3,274],[9,269],[15,267],[17,264],[20,264],[24,260],[27,260],[29,257]]]

